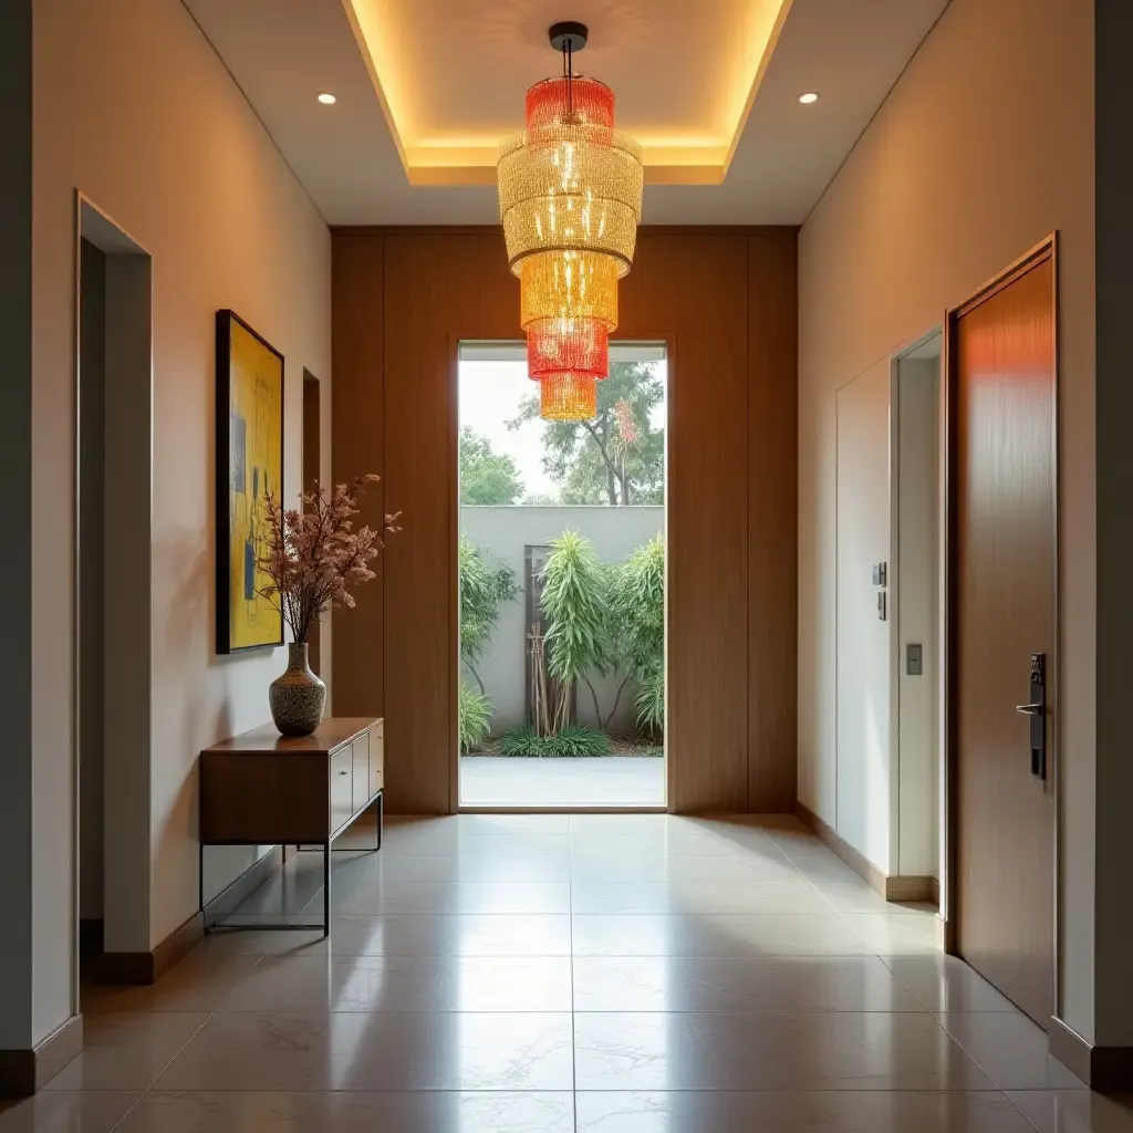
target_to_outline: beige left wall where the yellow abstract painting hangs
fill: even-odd
[[[31,1041],[67,1019],[73,991],[76,187],[153,256],[155,708],[140,947],[197,908],[197,750],[263,722],[282,666],[279,654],[213,653],[214,310],[235,308],[287,357],[289,492],[301,471],[303,368],[323,380],[327,400],[331,376],[329,233],[186,9],[35,0],[34,10]],[[323,452],[329,468],[329,435]],[[213,887],[248,855],[214,863]]]

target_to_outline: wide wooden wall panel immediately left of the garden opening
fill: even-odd
[[[457,350],[517,338],[519,284],[497,233],[385,237],[385,556],[391,808],[457,809]],[[375,642],[376,644],[376,642]]]

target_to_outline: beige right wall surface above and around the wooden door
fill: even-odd
[[[1063,1017],[1093,1034],[1093,5],[953,0],[800,236],[799,791],[835,801],[835,391],[1062,239]],[[881,506],[883,501],[878,501]],[[887,505],[887,504],[886,504]]]

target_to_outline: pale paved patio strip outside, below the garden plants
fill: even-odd
[[[462,807],[661,807],[665,760],[650,756],[462,756]]]

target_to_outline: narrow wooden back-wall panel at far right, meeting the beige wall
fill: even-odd
[[[748,238],[748,810],[798,780],[798,279],[794,232]]]

